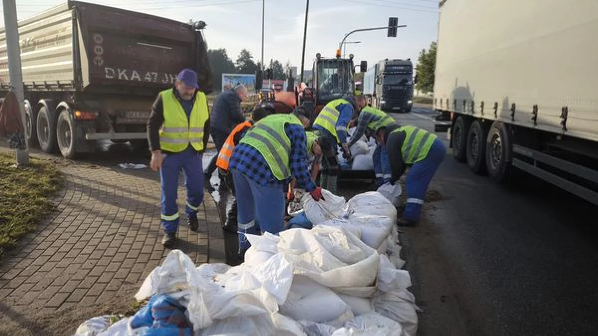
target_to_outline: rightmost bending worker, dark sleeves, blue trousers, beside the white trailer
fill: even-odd
[[[409,167],[407,204],[397,224],[414,226],[419,221],[428,185],[447,149],[434,133],[413,126],[381,127],[376,132],[376,140],[388,151],[392,169],[390,184],[395,184]]]

